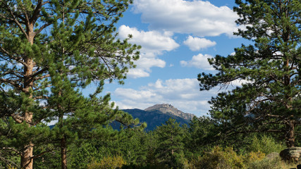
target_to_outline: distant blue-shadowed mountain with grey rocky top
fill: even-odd
[[[145,130],[147,131],[154,130],[156,126],[164,124],[169,118],[176,119],[181,125],[189,124],[194,116],[190,113],[179,111],[170,104],[156,104],[149,108],[145,108],[145,110],[135,108],[125,109],[123,111],[130,113],[133,118],[139,118],[141,123],[146,122],[147,128]]]

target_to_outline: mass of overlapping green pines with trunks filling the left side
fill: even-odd
[[[114,137],[104,127],[112,120],[137,123],[113,110],[109,95],[99,97],[104,80],[123,84],[139,58],[140,46],[116,39],[115,24],[131,3],[0,1],[0,115],[6,123],[0,144],[18,152],[21,168],[32,168],[30,159],[39,156],[32,147],[53,143],[66,150],[78,138]],[[82,96],[91,82],[99,87]],[[49,130],[44,123],[51,120],[59,123]]]

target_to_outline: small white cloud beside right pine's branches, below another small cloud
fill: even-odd
[[[209,64],[208,58],[213,58],[208,54],[198,54],[192,56],[191,61],[180,61],[180,65],[183,67],[195,67],[202,70],[214,70],[214,68]]]

